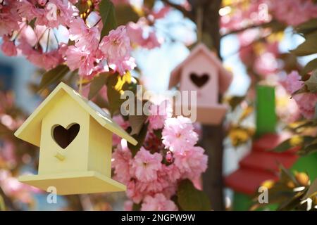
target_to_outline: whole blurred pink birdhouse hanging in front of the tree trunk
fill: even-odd
[[[232,74],[223,68],[216,54],[198,44],[172,71],[169,88],[179,84],[180,91],[197,91],[197,122],[219,124],[227,106],[218,102],[218,96],[228,89],[231,81]]]

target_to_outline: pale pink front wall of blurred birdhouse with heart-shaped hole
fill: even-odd
[[[197,91],[197,106],[218,104],[218,68],[204,53],[197,53],[183,66],[181,91]]]

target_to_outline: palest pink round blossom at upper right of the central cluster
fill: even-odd
[[[163,144],[173,152],[191,148],[198,141],[192,121],[183,116],[168,118],[162,131]]]

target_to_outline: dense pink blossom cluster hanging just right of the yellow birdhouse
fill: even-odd
[[[113,153],[114,179],[127,186],[131,200],[126,210],[131,210],[132,203],[140,204],[141,210],[178,210],[171,198],[179,181],[196,181],[207,167],[208,158],[204,149],[196,146],[198,134],[191,120],[171,117],[168,108],[157,115],[157,107],[151,105],[150,128],[135,156],[124,140]]]

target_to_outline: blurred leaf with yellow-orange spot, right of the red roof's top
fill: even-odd
[[[304,146],[306,145],[306,143],[310,143],[311,141],[313,141],[313,139],[314,138],[312,136],[294,135],[290,139],[287,139],[280,143],[277,147],[273,149],[273,151],[277,153],[282,153],[297,146]]]

